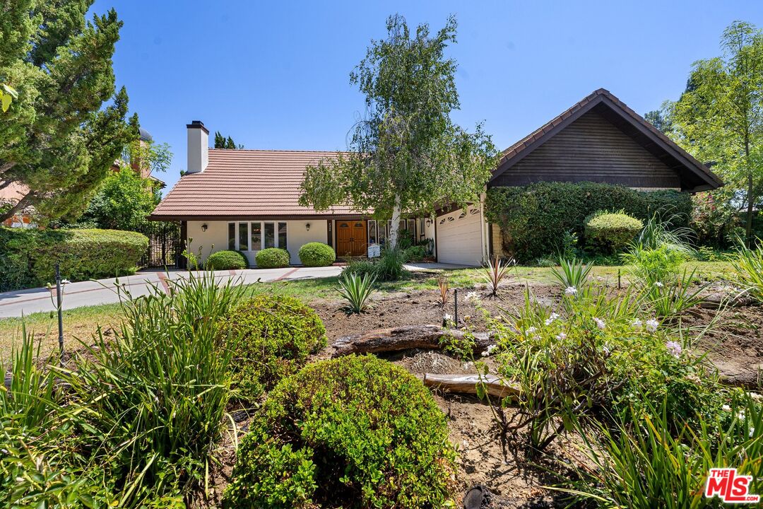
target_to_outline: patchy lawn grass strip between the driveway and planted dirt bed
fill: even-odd
[[[716,281],[728,278],[733,271],[728,262],[687,262],[681,266],[689,272],[696,269],[697,279]],[[610,285],[617,285],[617,273],[623,276],[623,284],[626,284],[626,266],[594,266],[591,269],[591,278],[601,278]],[[447,272],[416,272],[410,279],[398,282],[378,282],[376,288],[381,294],[395,292],[416,292],[420,290],[432,290],[439,292],[437,279],[446,275],[449,287],[459,289],[475,288],[482,284],[481,269],[457,269]],[[515,266],[508,278],[508,284],[528,285],[555,285],[556,279],[549,267]],[[253,295],[280,294],[300,298],[307,303],[316,301],[340,300],[336,288],[339,287],[339,278],[330,277],[323,279],[292,279],[290,281],[262,282],[251,285]],[[66,343],[76,343],[71,338],[78,337],[87,339],[95,333],[98,325],[104,329],[118,324],[120,319],[119,304],[102,304],[85,308],[76,308],[63,313],[63,330]],[[56,315],[53,313],[35,313],[24,318],[27,331],[34,333],[36,340],[42,340],[41,351],[43,355],[55,350],[58,345],[58,331],[56,329]],[[0,359],[6,359],[11,352],[11,345],[21,337],[21,318],[0,319]],[[65,343],[65,344],[66,344]]]

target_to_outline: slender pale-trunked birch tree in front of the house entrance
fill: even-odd
[[[349,152],[307,167],[300,203],[317,210],[346,204],[391,217],[394,248],[401,214],[478,201],[497,152],[481,124],[469,134],[450,118],[459,95],[456,62],[444,52],[456,42],[456,19],[433,37],[427,24],[410,37],[405,19],[394,15],[387,31],[350,74],[365,94],[367,118],[353,127]]]

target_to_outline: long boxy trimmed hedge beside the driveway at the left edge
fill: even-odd
[[[148,237],[122,230],[21,230],[0,227],[0,290],[134,274]]]

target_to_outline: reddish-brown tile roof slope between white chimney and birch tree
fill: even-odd
[[[152,219],[357,214],[349,207],[315,211],[298,204],[307,166],[336,152],[210,149],[203,172],[180,178]]]

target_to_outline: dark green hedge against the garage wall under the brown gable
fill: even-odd
[[[691,217],[691,195],[678,191],[634,191],[596,182],[537,182],[488,189],[485,215],[501,227],[504,251],[520,262],[557,253],[568,231],[584,235],[585,218],[596,211],[623,210],[646,221],[652,214],[676,215],[674,227]]]

